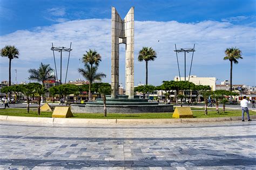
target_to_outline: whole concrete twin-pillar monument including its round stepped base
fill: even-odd
[[[107,111],[111,113],[148,113],[171,112],[173,105],[149,102],[146,98],[134,95],[134,7],[124,19],[116,8],[112,6],[112,49],[111,49],[111,97],[106,97]],[[119,89],[119,44],[125,44],[125,95],[118,95]],[[97,98],[96,102],[86,104],[72,104],[74,113],[102,113],[103,100]]]

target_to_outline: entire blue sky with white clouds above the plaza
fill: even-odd
[[[233,84],[256,86],[256,1],[48,1],[0,0],[0,48],[15,45],[19,59],[11,61],[11,80],[29,82],[28,69],[41,62],[55,68],[53,46],[69,47],[72,42],[67,81],[84,77],[79,62],[89,49],[101,56],[99,72],[111,82],[111,6],[124,18],[134,6],[134,86],[145,83],[145,62],[138,61],[142,47],[152,47],[157,58],[149,62],[148,82],[160,85],[179,75],[177,48],[195,44],[191,75],[216,77],[217,84],[230,79],[230,61],[224,61],[226,48],[237,47],[242,58],[233,65]],[[55,53],[59,77],[60,54]],[[125,84],[125,45],[120,45],[119,80]],[[186,76],[192,53],[186,55]],[[184,76],[184,53],[178,54]],[[68,53],[63,53],[65,77]],[[0,57],[0,81],[8,80],[9,60]]]

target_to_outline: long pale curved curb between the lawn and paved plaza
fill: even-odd
[[[246,116],[245,116],[245,119]],[[256,119],[252,115],[251,119]],[[214,118],[170,118],[170,119],[86,119],[86,118],[49,118],[49,117],[21,117],[3,116],[1,121],[39,122],[53,124],[173,124],[173,123],[206,123],[241,121],[241,116]]]

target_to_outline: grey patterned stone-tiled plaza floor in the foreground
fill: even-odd
[[[0,128],[0,169],[256,169],[254,121]]]

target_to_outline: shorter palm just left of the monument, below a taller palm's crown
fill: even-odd
[[[99,80],[101,81],[103,77],[106,77],[104,73],[97,72],[98,67],[97,66],[90,66],[89,63],[84,64],[83,68],[78,68],[78,72],[81,73],[84,78],[89,81],[89,101],[92,101],[91,98],[91,86],[93,81]]]

